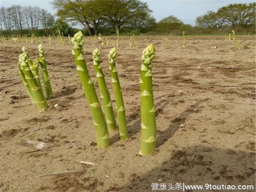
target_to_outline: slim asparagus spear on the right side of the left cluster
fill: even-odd
[[[44,82],[45,95],[46,95],[46,98],[51,98],[53,96],[52,86],[51,86],[51,82],[50,82],[50,78],[47,70],[46,61],[44,58],[44,47],[42,46],[42,44],[38,45],[38,51],[39,51],[41,72],[42,72],[43,82]]]

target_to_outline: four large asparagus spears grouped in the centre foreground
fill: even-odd
[[[84,36],[82,32],[77,32],[72,38],[74,48],[72,54],[76,63],[76,70],[82,84],[82,89],[86,96],[90,112],[92,114],[93,124],[96,130],[97,146],[108,147],[110,146],[108,131],[117,128],[114,111],[110,99],[110,94],[106,86],[102,66],[100,64],[100,51],[95,49],[92,52],[93,65],[96,72],[96,79],[98,82],[100,97],[102,98],[103,110],[100,106],[98,96],[96,94],[94,84],[90,79],[86,62],[83,56]],[[154,58],[154,46],[149,44],[142,54],[142,67],[140,78],[141,90],[141,149],[140,154],[150,154],[156,148],[156,120],[155,109],[152,90],[152,59]],[[117,51],[112,48],[108,54],[110,76],[112,78],[112,86],[116,100],[118,128],[121,140],[128,139],[128,130],[126,123],[126,114],[124,108],[124,101],[122,97],[122,90],[120,87],[117,67],[116,67]]]

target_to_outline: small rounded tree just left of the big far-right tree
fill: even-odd
[[[222,28],[223,24],[224,19],[220,17],[220,14],[213,11],[208,11],[207,14],[198,16],[196,18],[196,26],[198,27],[209,27],[219,29]]]

